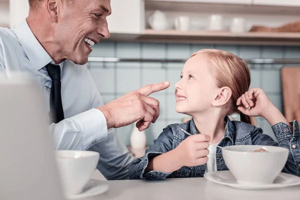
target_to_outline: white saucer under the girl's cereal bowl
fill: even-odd
[[[243,185],[236,182],[230,171],[212,171],[204,174],[207,180],[219,184],[228,185],[238,189],[273,189],[300,184],[300,177],[288,173],[279,173],[273,184],[264,185]]]

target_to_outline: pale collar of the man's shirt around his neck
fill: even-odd
[[[54,64],[54,61],[47,53],[47,51],[41,46],[39,41],[31,31],[26,19],[24,19],[14,29],[14,32],[27,56],[29,61],[36,67],[36,70],[41,69],[48,63]],[[62,68],[63,62],[59,64]]]

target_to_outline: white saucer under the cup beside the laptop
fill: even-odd
[[[69,195],[65,198],[70,199],[79,199],[79,198],[86,198],[89,196],[95,196],[101,193],[104,193],[108,189],[108,184],[103,184],[104,181],[101,180],[95,180],[90,179],[86,185],[83,187],[83,190],[81,193],[75,194],[75,195]]]

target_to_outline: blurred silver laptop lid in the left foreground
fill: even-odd
[[[37,84],[0,76],[0,199],[62,200]]]

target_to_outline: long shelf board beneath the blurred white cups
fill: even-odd
[[[140,35],[126,36],[112,34],[113,40],[132,40],[146,42],[184,42],[211,44],[245,44],[245,45],[300,45],[300,33],[281,32],[218,32],[218,31],[156,31],[146,29]]]

